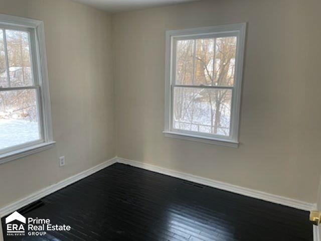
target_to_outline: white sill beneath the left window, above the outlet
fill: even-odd
[[[41,143],[38,145],[34,145],[31,147],[26,147],[23,149],[19,149],[16,151],[0,154],[0,164],[10,162],[19,158],[23,158],[26,156],[29,156],[31,154],[35,154],[38,152],[42,152],[44,150],[47,150],[49,148],[52,148],[55,145],[56,142],[47,142],[47,143]]]

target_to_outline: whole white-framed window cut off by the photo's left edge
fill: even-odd
[[[53,144],[43,23],[0,15],[0,163]]]

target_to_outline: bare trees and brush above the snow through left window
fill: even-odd
[[[29,51],[29,34],[22,31],[6,30],[7,53],[4,33],[0,31],[0,85],[30,86],[33,83]],[[9,66],[6,63],[8,55]],[[0,118],[23,118],[37,121],[35,90],[8,90],[0,92]]]

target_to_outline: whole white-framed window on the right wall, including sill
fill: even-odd
[[[245,28],[167,31],[167,137],[237,147]]]

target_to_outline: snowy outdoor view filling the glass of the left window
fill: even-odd
[[[30,33],[0,29],[0,153],[41,139]]]

